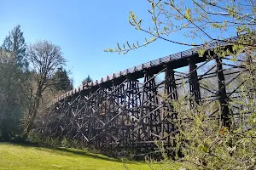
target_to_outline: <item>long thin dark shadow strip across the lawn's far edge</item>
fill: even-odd
[[[0,143],[1,144],[1,143]],[[4,144],[4,143],[3,143]],[[74,156],[86,156],[94,159],[99,159],[99,160],[104,160],[104,161],[114,161],[114,162],[119,162],[119,163],[125,163],[125,164],[141,164],[143,162],[137,162],[137,161],[128,161],[128,160],[120,160],[120,159],[115,159],[113,157],[108,157],[108,156],[103,156],[101,154],[96,154],[96,153],[91,153],[88,150],[77,150],[73,148],[58,148],[58,147],[52,147],[52,146],[42,146],[39,144],[35,143],[5,143],[5,144],[13,144],[17,146],[23,146],[23,147],[32,147],[35,148],[36,150],[41,150],[41,151],[50,151],[56,154],[61,154],[61,155],[69,155],[73,154]]]

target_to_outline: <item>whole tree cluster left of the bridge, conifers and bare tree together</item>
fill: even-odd
[[[20,26],[9,32],[0,47],[0,140],[26,137],[44,105],[73,88],[65,62],[55,44],[27,47]]]

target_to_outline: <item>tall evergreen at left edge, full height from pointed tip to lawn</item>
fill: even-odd
[[[0,140],[17,139],[26,112],[28,81],[26,42],[20,26],[9,32],[0,48]]]

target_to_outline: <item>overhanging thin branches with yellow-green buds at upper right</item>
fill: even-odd
[[[143,19],[138,19],[137,14],[130,12],[129,22],[138,31],[143,31],[149,38],[143,43],[126,42],[117,48],[106,48],[106,52],[126,54],[129,51],[158,41],[177,43],[191,47],[207,48],[210,42],[236,43],[236,48],[255,49],[255,3],[251,0],[192,0],[177,2],[173,0],[148,0],[151,8],[148,9],[148,18],[152,25],[144,26]],[[183,36],[177,41],[172,39],[172,34]],[[238,42],[224,40],[225,37],[240,35]],[[243,36],[242,36],[243,35]],[[181,39],[189,40],[182,42]]]

